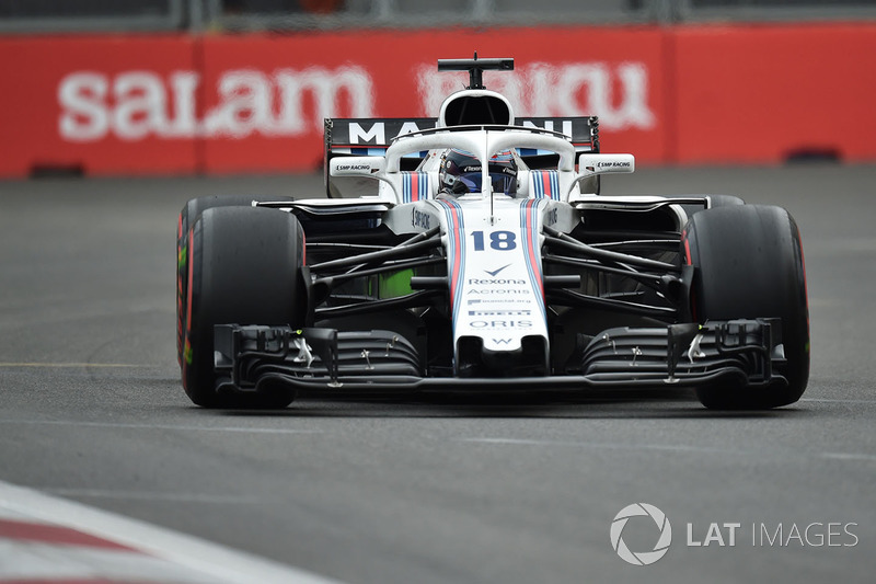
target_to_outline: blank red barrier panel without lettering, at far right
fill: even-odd
[[[876,24],[682,27],[672,43],[669,160],[876,160]]]

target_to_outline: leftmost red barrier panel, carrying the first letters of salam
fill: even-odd
[[[178,35],[0,38],[0,176],[192,172],[195,141],[166,119],[174,104],[162,79],[194,69],[193,45]]]

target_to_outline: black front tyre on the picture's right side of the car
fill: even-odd
[[[696,390],[703,405],[750,410],[796,402],[809,379],[809,309],[800,234],[791,215],[762,205],[706,209],[688,221],[682,255],[694,267],[694,320],[782,319],[786,362],[774,373],[787,387],[703,387]]]

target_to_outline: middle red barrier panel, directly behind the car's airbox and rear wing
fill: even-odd
[[[468,82],[464,72],[439,73],[437,60],[474,50],[515,57],[514,73],[487,72],[485,84],[507,94],[519,115],[588,115],[599,108],[608,148],[659,162],[667,135],[661,46],[655,28],[207,37],[205,87],[219,88],[207,95],[207,116],[227,122],[227,131],[207,140],[205,169],[315,168],[322,161],[322,119],[333,114],[435,116],[441,99]],[[573,58],[576,53],[586,58]],[[246,139],[230,138],[234,134]]]

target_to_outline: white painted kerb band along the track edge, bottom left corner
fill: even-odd
[[[337,584],[304,570],[0,481],[0,511],[4,509],[12,516],[65,526],[128,546],[203,574],[205,582]],[[0,568],[0,580],[2,573]]]

